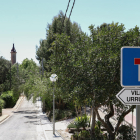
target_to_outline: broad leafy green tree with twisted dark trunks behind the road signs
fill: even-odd
[[[137,29],[137,27],[135,27]],[[135,106],[124,106],[116,94],[120,91],[120,49],[123,46],[124,36],[133,31],[133,39],[139,38],[135,30],[124,32],[124,25],[111,23],[103,24],[98,28],[89,27],[90,38],[85,34],[77,35],[77,42],[72,44],[66,34],[56,35],[53,45],[53,54],[50,56],[52,72],[59,77],[59,87],[67,95],[74,95],[81,103],[85,99],[94,100],[94,111],[102,125],[109,133],[109,139],[115,139],[123,118],[132,111]],[[134,38],[135,37],[135,38]],[[130,36],[131,38],[131,36]],[[128,44],[130,38],[127,38]],[[133,45],[136,45],[134,41]],[[101,119],[98,109],[101,106],[108,107],[105,121]],[[114,106],[122,109],[118,114],[116,127],[109,119],[114,116]]]

